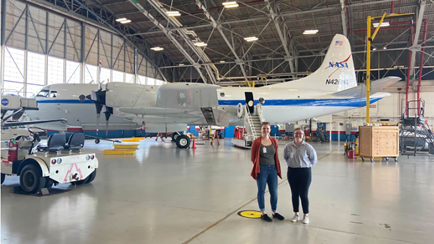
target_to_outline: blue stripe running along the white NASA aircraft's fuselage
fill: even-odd
[[[381,98],[371,99],[371,103],[377,102]],[[58,99],[58,100],[39,100],[38,103],[93,103],[91,100],[80,102],[78,99]],[[220,106],[237,106],[238,103],[246,104],[245,100],[219,100]],[[254,101],[256,105],[257,100]],[[331,106],[331,107],[364,107],[365,98],[350,99],[273,99],[266,100],[263,106]]]

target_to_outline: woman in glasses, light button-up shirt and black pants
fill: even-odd
[[[283,158],[288,164],[288,182],[291,187],[294,217],[291,222],[299,220],[299,198],[303,208],[303,224],[309,224],[309,186],[312,181],[311,167],[318,162],[315,149],[303,141],[304,132],[294,130],[294,141],[283,148]]]

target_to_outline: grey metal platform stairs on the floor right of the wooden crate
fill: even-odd
[[[424,119],[425,101],[402,99],[399,130],[401,155],[434,155],[434,135]]]

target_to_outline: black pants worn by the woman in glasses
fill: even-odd
[[[309,213],[309,192],[310,182],[312,181],[311,168],[291,168],[288,167],[288,182],[293,195],[293,210],[299,212],[299,198],[303,207],[303,213]]]

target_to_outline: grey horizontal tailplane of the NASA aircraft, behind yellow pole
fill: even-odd
[[[391,84],[398,82],[401,78],[390,76],[378,80],[371,81],[371,94],[380,92],[381,89],[390,86]],[[360,86],[355,86],[340,92],[335,92],[333,96],[343,96],[343,97],[355,97],[361,98],[366,97],[366,86],[362,84]]]

